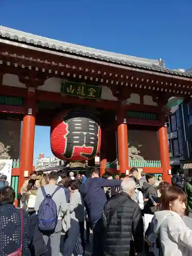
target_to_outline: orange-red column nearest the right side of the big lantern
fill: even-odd
[[[120,173],[125,173],[129,169],[128,157],[128,136],[127,125],[124,119],[124,110],[120,108],[117,114],[117,141],[118,141],[118,161]]]

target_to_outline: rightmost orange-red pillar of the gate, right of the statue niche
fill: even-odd
[[[168,174],[168,170],[170,169],[170,161],[169,161],[169,153],[168,153],[167,128],[162,125],[159,128],[158,135],[159,135],[161,167],[163,170],[162,178],[163,178],[163,181],[166,181],[172,184],[171,176],[170,174]]]

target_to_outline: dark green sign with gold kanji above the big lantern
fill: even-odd
[[[89,86],[88,84],[77,82],[63,81],[61,86],[61,94],[89,99],[100,99],[101,87]]]

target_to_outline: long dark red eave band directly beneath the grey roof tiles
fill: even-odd
[[[55,62],[55,63],[61,63],[62,65],[68,65],[68,66],[74,66],[74,67],[81,67],[82,69],[89,69],[89,70],[95,70],[95,71],[100,71],[101,73],[111,73],[115,75],[118,75],[118,77],[120,77],[121,75],[132,75],[136,78],[146,78],[149,80],[154,80],[154,81],[162,81],[163,83],[167,83],[166,85],[169,84],[180,84],[180,86],[189,86],[191,87],[191,80],[190,78],[185,78],[182,77],[181,79],[179,78],[179,76],[174,76],[174,74],[163,74],[161,72],[154,72],[152,73],[152,71],[149,70],[143,70],[143,69],[139,69],[139,68],[133,68],[133,70],[128,70],[126,69],[127,66],[125,67],[125,69],[123,69],[123,66],[121,65],[120,67],[118,67],[118,65],[116,65],[116,67],[112,67],[109,65],[102,65],[100,63],[96,63],[94,61],[92,61],[92,59],[86,58],[84,57],[84,60],[81,59],[73,59],[70,58],[70,53],[67,53],[69,57],[66,56],[59,56],[59,55],[54,55],[51,53],[46,53],[46,52],[41,52],[41,51],[31,51],[28,48],[19,48],[19,47],[15,47],[15,46],[10,46],[7,44],[0,44],[0,50],[3,52],[8,52],[12,55],[19,55],[19,56],[23,56],[23,57],[27,57],[27,58],[33,58],[33,59],[38,59],[38,60],[46,60],[47,62]],[[32,61],[35,62],[35,61]],[[26,62],[27,63],[27,62]],[[50,67],[50,65],[52,64],[48,64],[46,63],[46,65],[44,63],[40,63],[40,62],[36,62],[38,63],[39,67],[44,66],[42,68],[47,68]],[[104,61],[103,61],[104,63]],[[105,62],[106,63],[106,62]],[[42,65],[41,65],[42,64]],[[34,66],[34,65],[33,65]],[[56,66],[55,66],[56,67]],[[51,67],[50,67],[51,68]],[[170,77],[170,76],[174,76]]]

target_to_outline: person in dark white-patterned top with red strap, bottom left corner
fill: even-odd
[[[20,252],[18,255],[31,256],[31,218],[25,210],[14,207],[14,199],[12,187],[0,189],[0,255]]]

